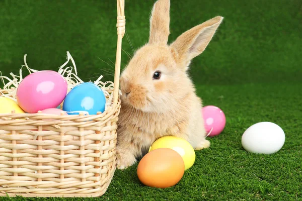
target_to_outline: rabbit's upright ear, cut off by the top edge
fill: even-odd
[[[170,24],[170,0],[159,0],[154,4],[150,18],[149,44],[167,45]]]

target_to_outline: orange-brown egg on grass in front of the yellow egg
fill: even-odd
[[[177,184],[185,172],[185,163],[179,153],[159,148],[147,153],[137,166],[138,179],[147,186],[167,188]]]

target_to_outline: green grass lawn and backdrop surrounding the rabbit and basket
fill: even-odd
[[[171,0],[170,42],[216,15],[224,22],[190,75],[204,105],[226,115],[226,126],[174,187],[143,186],[136,165],[117,170],[100,198],[0,200],[302,200],[302,2],[299,0]],[[134,49],[147,41],[154,1],[126,1],[127,34]],[[116,48],[114,1],[0,1],[0,71],[56,70],[69,51],[89,80],[112,71]],[[125,36],[123,49],[132,55]],[[99,57],[99,58],[98,58]],[[122,54],[122,66],[128,62]],[[113,64],[112,64],[113,65]],[[283,148],[256,155],[241,146],[251,125],[270,121],[285,132]]]

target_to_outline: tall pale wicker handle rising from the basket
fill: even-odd
[[[119,94],[119,79],[121,70],[122,38],[125,34],[125,0],[117,0],[117,47],[114,70],[113,103],[117,104]]]

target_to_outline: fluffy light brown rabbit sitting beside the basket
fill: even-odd
[[[202,101],[186,70],[204,51],[222,17],[208,20],[167,45],[170,0],[155,3],[149,42],[136,51],[121,74],[122,106],[117,130],[117,167],[124,169],[143,156],[160,137],[186,139],[195,150],[208,148]]]

